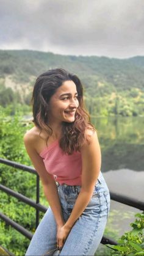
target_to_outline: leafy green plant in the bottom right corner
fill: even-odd
[[[113,256],[144,255],[144,212],[135,214],[135,217],[137,218],[131,223],[133,229],[121,236],[117,246],[109,245],[117,251]]]

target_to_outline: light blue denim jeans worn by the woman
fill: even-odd
[[[63,218],[69,218],[81,186],[58,185]],[[103,237],[110,208],[109,189],[99,174],[93,196],[73,225],[59,255],[94,255]],[[49,207],[35,231],[26,255],[45,255],[56,248],[57,225]]]

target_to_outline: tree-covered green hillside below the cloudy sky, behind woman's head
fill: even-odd
[[[21,103],[27,104],[35,78],[49,68],[56,67],[66,68],[81,78],[91,113],[94,109],[91,109],[90,102],[94,98],[99,101],[99,97],[102,97],[106,104],[108,100],[117,101],[116,107],[120,102],[126,105],[124,98],[129,98],[132,102],[134,100],[134,104],[137,101],[143,103],[144,57],[142,56],[114,59],[96,56],[63,56],[31,50],[0,50],[0,93],[4,95],[7,90],[7,94],[12,98],[15,92],[17,96],[13,95],[13,98],[17,97]],[[95,111],[98,112],[96,104],[94,105]],[[113,114],[121,114],[117,112],[118,109]],[[99,114],[103,115],[104,112]],[[132,115],[137,114],[139,111]]]

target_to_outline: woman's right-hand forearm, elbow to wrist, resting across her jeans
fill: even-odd
[[[88,203],[90,202],[92,194],[92,189],[90,191],[85,191],[84,189],[81,189],[81,191],[79,192],[79,196],[77,197],[74,204],[73,211],[71,211],[70,218],[68,218],[68,221],[65,223],[65,227],[67,229],[71,229],[79,216],[81,216]]]

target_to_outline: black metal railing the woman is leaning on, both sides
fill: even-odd
[[[31,205],[31,207],[35,208],[35,210],[36,210],[35,228],[37,228],[38,223],[39,223],[39,212],[42,211],[43,213],[45,213],[46,210],[48,209],[48,208],[44,207],[43,205],[40,205],[40,203],[39,203],[40,178],[39,178],[37,172],[32,167],[24,166],[23,164],[19,164],[19,163],[13,162],[13,161],[9,161],[7,159],[0,158],[0,163],[6,164],[7,166],[12,166],[15,169],[21,169],[21,170],[24,170],[26,172],[30,172],[31,174],[36,175],[36,183],[37,183],[36,202],[34,200],[29,199],[26,196],[23,196],[22,194],[20,194],[18,192],[13,191],[10,188],[7,188],[7,187],[3,186],[3,185],[0,185],[0,190],[3,191],[3,192],[6,192],[10,196],[16,197],[17,199],[21,200],[22,202],[26,203],[27,205]],[[118,193],[110,191],[110,198],[111,198],[111,200],[114,200],[116,202],[124,203],[125,205],[135,207],[139,210],[144,210],[144,202],[132,199],[131,197],[121,196]],[[7,216],[5,216],[2,213],[0,213],[0,218],[3,219],[7,224],[11,225],[14,229],[18,230],[18,232],[20,232],[21,234],[23,234],[24,236],[26,236],[27,238],[29,238],[31,240],[32,233],[27,231],[26,229],[24,229],[24,227],[22,227],[20,224],[16,223],[15,221],[12,221],[12,219],[8,218]],[[106,236],[103,236],[103,238],[101,240],[101,243],[102,244],[117,244],[116,241],[114,241],[110,238],[107,238]]]

